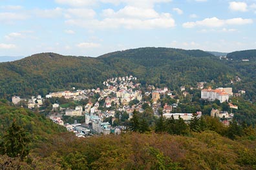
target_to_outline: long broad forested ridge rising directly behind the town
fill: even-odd
[[[246,74],[255,70],[253,63],[248,63],[249,67],[240,66],[238,62],[219,60],[201,50],[174,48],[137,48],[96,58],[39,53],[19,61],[0,63],[0,97],[44,96],[52,91],[70,90],[73,86],[102,88],[104,80],[125,75],[138,77],[142,85],[167,86],[171,90],[211,80],[216,86],[225,86],[239,76],[253,92],[256,91],[251,79],[253,74]],[[242,82],[237,86],[243,88]],[[236,90],[236,86],[233,88]]]

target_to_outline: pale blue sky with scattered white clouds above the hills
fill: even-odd
[[[234,52],[256,49],[255,37],[256,0],[0,0],[0,56]]]

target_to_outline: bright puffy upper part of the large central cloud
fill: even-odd
[[[155,18],[159,14],[151,8],[138,8],[134,6],[125,6],[124,8],[114,12],[112,9],[103,10],[104,17],[134,17],[134,18]]]

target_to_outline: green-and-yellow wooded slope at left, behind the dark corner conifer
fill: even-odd
[[[67,132],[63,126],[54,124],[52,120],[45,116],[34,113],[25,108],[10,106],[6,100],[0,100],[0,144],[6,129],[16,120],[19,126],[23,127],[31,141],[31,148],[37,146],[38,142],[45,141],[51,135]]]

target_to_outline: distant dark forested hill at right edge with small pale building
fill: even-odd
[[[250,60],[256,61],[256,50],[244,50],[240,52],[228,53],[228,59],[233,59],[234,61]]]

